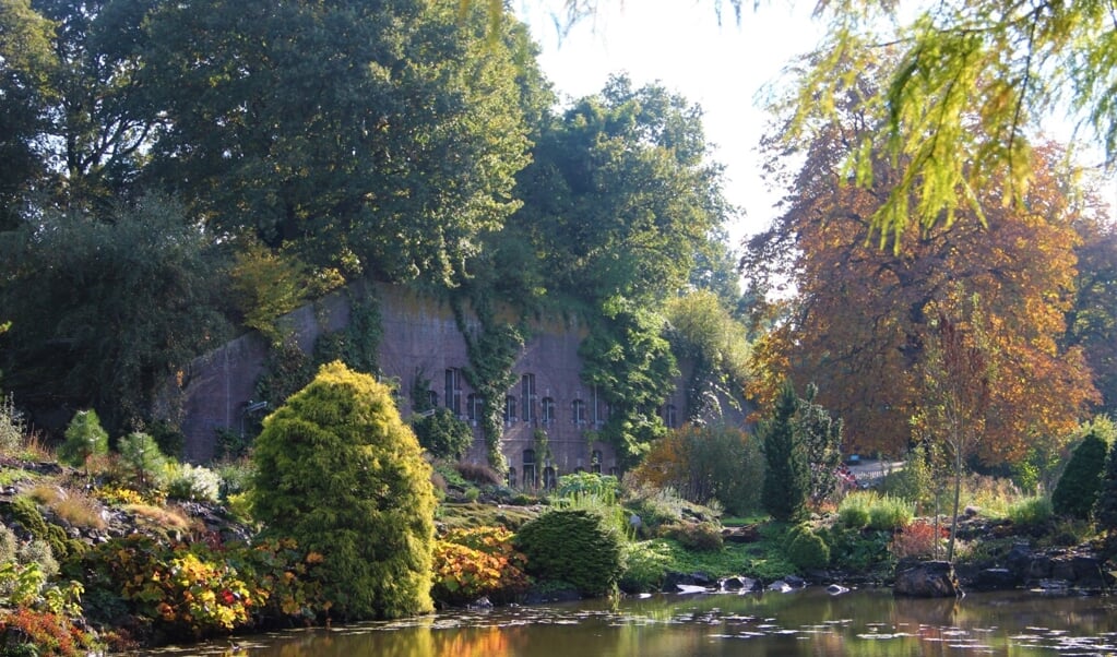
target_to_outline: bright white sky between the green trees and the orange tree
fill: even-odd
[[[761,178],[756,146],[770,116],[758,94],[823,30],[810,17],[813,2],[762,3],[756,11],[745,2],[739,23],[723,4],[718,25],[714,0],[602,2],[598,16],[561,39],[552,17],[562,0],[522,0],[518,16],[543,49],[544,74],[566,98],[595,94],[623,73],[637,87],[659,83],[701,106],[713,159],[725,165],[725,196],[743,209],[728,227],[735,246],[771,223],[780,197]]]

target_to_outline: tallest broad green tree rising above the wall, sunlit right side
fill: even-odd
[[[149,179],[221,231],[346,277],[459,278],[527,162],[522,28],[442,2],[159,2]],[[518,36],[517,36],[518,35]]]

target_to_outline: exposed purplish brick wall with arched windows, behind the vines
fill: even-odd
[[[429,380],[438,406],[447,406],[449,391],[451,406],[452,398],[458,398],[459,417],[476,427],[469,419],[468,408],[472,390],[460,377],[460,370],[469,363],[466,343],[449,305],[399,286],[378,285],[374,292],[383,328],[379,363],[382,375],[399,385],[401,413],[407,417],[411,412],[410,391],[416,380]],[[318,336],[343,328],[349,323],[349,315],[347,296],[335,294],[292,313],[284,318],[284,326],[305,352],[312,353]],[[608,409],[595,402],[595,391],[580,378],[582,363],[577,347],[584,335],[585,328],[575,323],[536,322],[529,342],[513,368],[517,383],[508,394],[515,398],[515,417],[505,422],[502,453],[517,485],[524,485],[525,474],[528,483],[535,480],[542,485],[545,478],[577,469],[600,468],[610,473],[619,465],[609,445],[589,441],[592,434],[588,432],[603,423]],[[188,460],[204,463],[213,458],[218,430],[242,430],[266,356],[267,344],[254,333],[191,364],[184,373],[180,396]],[[454,381],[458,382],[456,393]],[[525,385],[531,392],[533,382],[534,396],[525,418]],[[544,400],[551,402],[553,419],[543,417]],[[582,409],[580,413],[575,412],[576,404]],[[669,412],[668,409],[674,409],[676,421],[681,421],[685,417],[681,392],[677,391],[667,400],[663,412]],[[547,463],[533,459],[537,429],[547,434],[552,454]],[[484,439],[476,428],[475,432],[476,439],[464,460],[484,464]],[[525,456],[531,463],[525,464]]]

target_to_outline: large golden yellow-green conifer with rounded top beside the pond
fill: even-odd
[[[324,555],[322,583],[343,619],[433,609],[430,466],[386,385],[341,362],[264,420],[255,510],[267,533]]]

